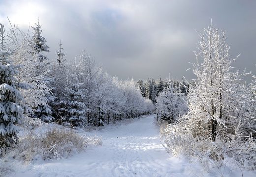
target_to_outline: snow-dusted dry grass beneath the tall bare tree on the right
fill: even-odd
[[[162,141],[166,150],[175,156],[197,157],[206,171],[227,164],[233,169],[256,170],[256,141],[253,138],[212,142],[207,137],[167,131],[162,135]]]

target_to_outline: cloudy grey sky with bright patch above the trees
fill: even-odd
[[[233,66],[256,73],[255,9],[256,0],[0,0],[0,23],[8,16],[25,30],[40,17],[50,59],[61,40],[67,59],[85,50],[122,80],[190,80],[196,31],[211,20],[226,30],[231,58],[241,54]]]

